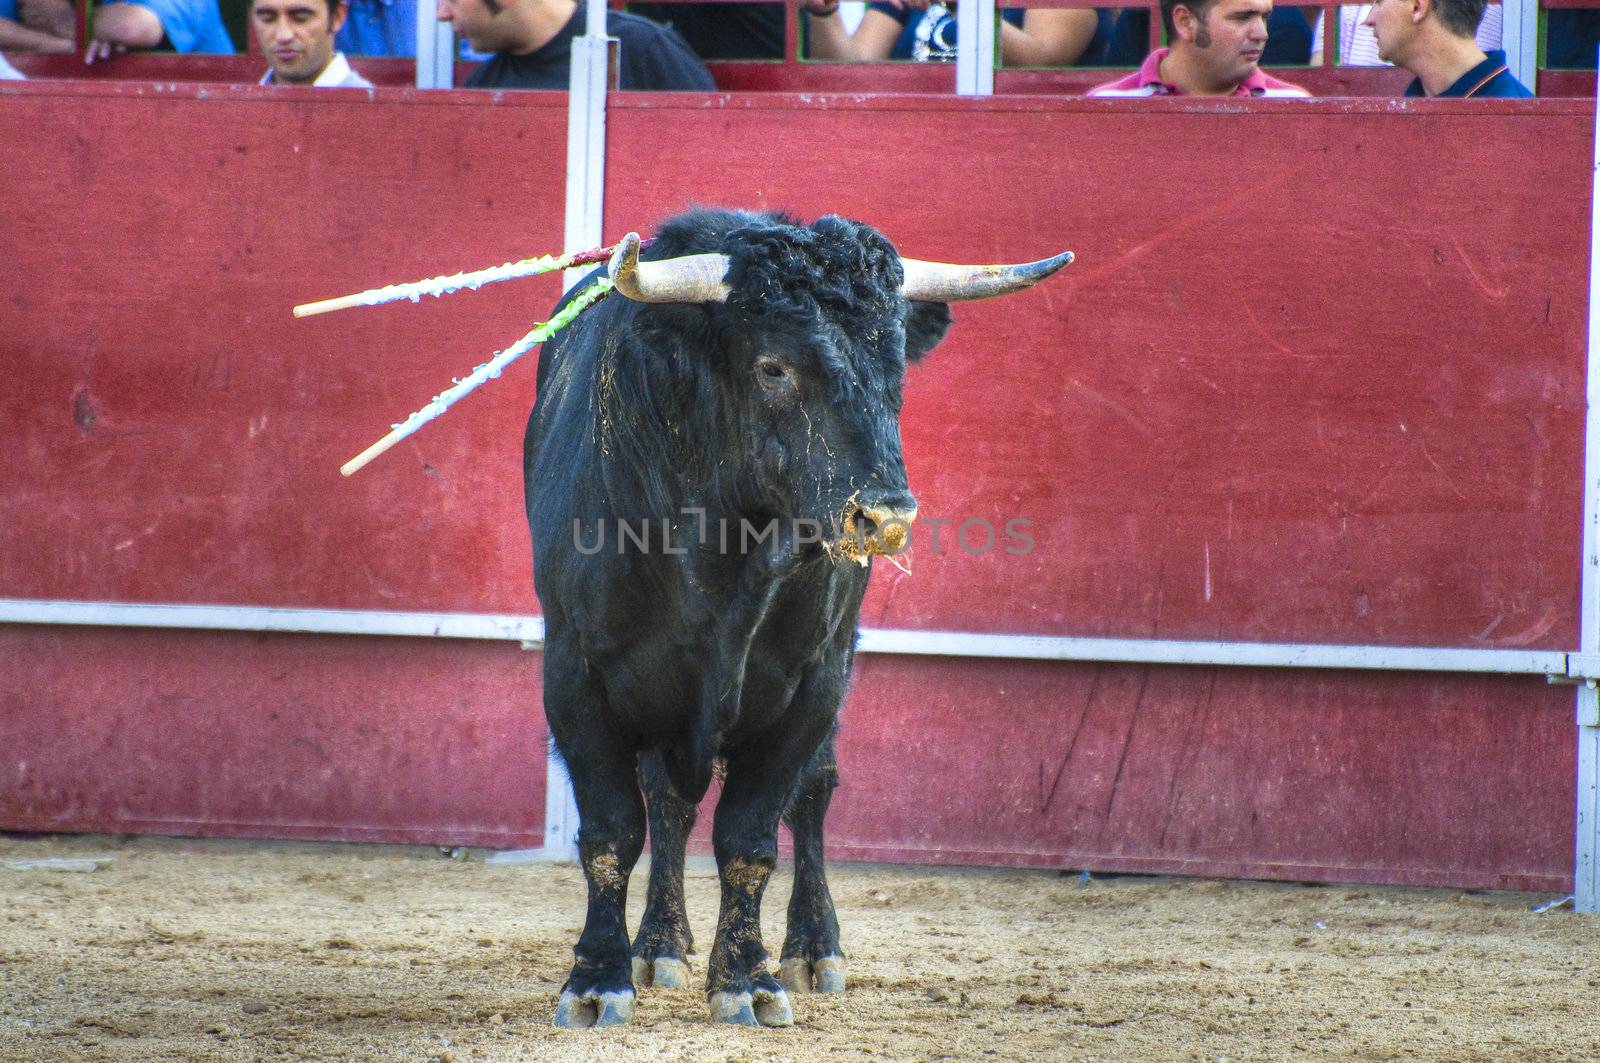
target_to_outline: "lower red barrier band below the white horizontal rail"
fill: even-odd
[[[542,842],[514,645],[0,626],[0,828]],[[1571,730],[1536,677],[866,655],[829,852],[1565,890]]]

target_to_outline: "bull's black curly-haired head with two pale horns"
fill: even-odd
[[[742,219],[763,224],[731,229],[720,251],[659,261],[640,261],[629,234],[611,280],[662,304],[640,312],[643,331],[699,336],[682,357],[710,362],[714,392],[693,400],[717,411],[691,421],[706,447],[726,448],[717,461],[731,480],[718,490],[736,509],[808,528],[835,559],[898,554],[917,515],[899,434],[907,362],[944,338],[949,303],[1027,288],[1072,253],[952,266],[902,259],[877,231],[835,216],[810,227]]]

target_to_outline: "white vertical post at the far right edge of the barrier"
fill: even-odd
[[[1507,11],[1507,16],[1510,13]],[[1600,85],[1597,85],[1600,99]],[[1600,134],[1600,109],[1595,110]],[[1584,413],[1584,559],[1579,591],[1578,650],[1600,652],[1600,139],[1595,141],[1594,186],[1589,224],[1589,362]],[[1574,850],[1573,906],[1600,911],[1600,690],[1594,680],[1578,687],[1578,845]]]

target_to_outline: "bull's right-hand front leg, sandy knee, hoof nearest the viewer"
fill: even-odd
[[[802,687],[811,682],[808,677]],[[832,709],[805,711],[814,704],[797,696],[798,719],[787,733],[766,735],[755,748],[728,757],[728,778],[712,823],[722,909],[706,977],[712,1018],[726,1023],[794,1023],[789,996],[768,969],[762,945],[762,895],[778,863],[778,820],[832,728]]]

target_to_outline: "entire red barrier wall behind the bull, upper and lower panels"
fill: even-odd
[[[517,365],[554,280],[288,307],[560,243],[563,99],[0,86],[0,597],[531,612]],[[622,98],[606,235],[691,200],[1078,263],[914,371],[928,517],[866,623],[1576,642],[1590,107]],[[38,130],[62,130],[38,136]],[[1530,150],[1528,146],[1538,146]],[[954,533],[946,528],[946,536]],[[525,845],[536,656],[0,629],[0,824]],[[843,856],[1557,889],[1541,679],[862,660]]]

